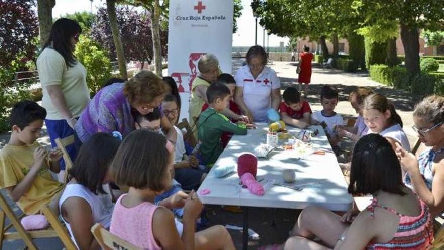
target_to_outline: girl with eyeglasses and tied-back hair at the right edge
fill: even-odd
[[[400,145],[396,149],[404,182],[430,209],[433,217],[444,212],[444,97],[432,95],[413,111],[413,129],[428,148],[418,159]]]

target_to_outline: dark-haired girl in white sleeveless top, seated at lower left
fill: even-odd
[[[69,171],[71,181],[60,198],[59,208],[79,249],[100,249],[91,227],[95,223],[110,226],[114,204],[112,192],[106,193],[104,184],[110,180],[108,169],[119,145],[120,139],[107,133],[91,136],[81,146]]]

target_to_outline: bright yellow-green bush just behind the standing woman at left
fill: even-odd
[[[76,45],[75,55],[86,68],[86,83],[89,90],[92,94],[97,93],[111,77],[112,67],[108,52],[97,42],[82,35]]]

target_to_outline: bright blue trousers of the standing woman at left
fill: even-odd
[[[68,125],[66,120],[45,120],[46,128],[48,129],[49,139],[51,140],[51,146],[55,147],[55,139],[57,138],[65,138],[70,135],[73,135],[75,131]],[[76,159],[78,148],[80,148],[80,141],[74,140],[74,143],[68,145],[66,150],[68,151],[69,156],[71,157],[71,161],[74,162]],[[60,160],[60,170],[65,170],[65,161],[63,158]]]

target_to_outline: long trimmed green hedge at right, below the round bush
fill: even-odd
[[[444,94],[444,73],[430,72],[411,76],[405,67],[387,65],[371,65],[370,78],[387,86],[410,91],[421,96]]]

